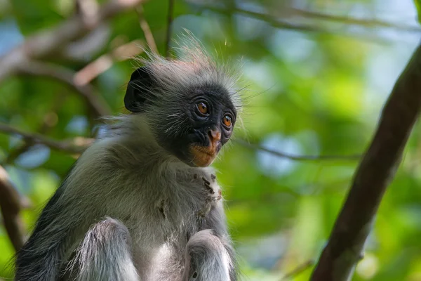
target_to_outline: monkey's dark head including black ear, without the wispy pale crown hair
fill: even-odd
[[[218,79],[182,81],[168,78],[164,83],[140,67],[132,74],[124,103],[147,116],[156,141],[171,155],[190,166],[208,166],[232,135],[236,107]]]

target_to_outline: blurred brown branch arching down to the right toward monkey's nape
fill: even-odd
[[[91,107],[97,117],[110,115],[112,113],[105,100],[103,100],[100,95],[94,94],[92,86],[89,84],[79,85],[75,83],[73,78],[75,72],[66,67],[27,60],[20,65],[17,65],[16,72],[18,74],[44,76],[62,81],[86,99],[88,106]]]

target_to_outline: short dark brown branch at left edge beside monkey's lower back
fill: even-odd
[[[18,251],[25,241],[22,221],[19,217],[21,207],[20,195],[13,186],[6,170],[0,166],[0,209],[4,220],[4,228],[15,251]]]

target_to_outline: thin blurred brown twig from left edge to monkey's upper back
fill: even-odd
[[[91,138],[82,137],[73,138],[67,141],[55,141],[52,138],[41,135],[41,133],[27,133],[3,123],[0,123],[0,132],[22,136],[24,140],[29,140],[32,143],[47,145],[49,148],[53,148],[54,150],[76,154],[80,154],[83,152],[83,150],[86,150],[88,145],[93,142],[93,139]]]

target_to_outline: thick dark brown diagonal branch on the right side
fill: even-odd
[[[382,110],[380,123],[359,164],[312,281],[350,280],[387,185],[421,109],[421,45]]]

